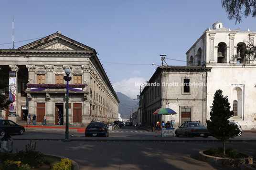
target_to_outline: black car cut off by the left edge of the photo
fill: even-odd
[[[25,131],[25,128],[23,126],[18,125],[12,120],[0,120],[0,135],[4,136],[4,134],[7,133],[19,133],[22,135]]]

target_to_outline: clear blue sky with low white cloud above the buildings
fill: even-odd
[[[132,99],[167,55],[185,65],[186,52],[217,20],[225,28],[256,31],[256,19],[228,20],[221,0],[2,0],[0,49],[15,49],[57,31],[98,52],[116,91]],[[37,39],[36,39],[37,40]]]

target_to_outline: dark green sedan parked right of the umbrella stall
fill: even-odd
[[[208,138],[210,135],[207,127],[203,123],[198,121],[186,121],[178,129],[175,130],[176,137],[185,136],[185,137],[203,137]]]

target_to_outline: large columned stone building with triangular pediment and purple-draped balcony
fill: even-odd
[[[1,92],[10,99],[16,96],[14,110],[11,107],[1,110],[1,118],[19,121],[31,113],[37,115],[37,123],[46,115],[48,123],[63,124],[67,106],[64,70],[68,68],[72,78],[69,123],[86,126],[93,118],[118,119],[119,100],[96,50],[61,32],[18,49],[0,50],[0,68],[6,73],[3,81],[10,84],[10,88]],[[16,84],[15,92],[11,90],[11,83]]]

